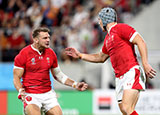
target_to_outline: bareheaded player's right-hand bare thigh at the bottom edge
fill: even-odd
[[[46,115],[62,115],[62,109],[60,106],[55,106],[46,112]]]

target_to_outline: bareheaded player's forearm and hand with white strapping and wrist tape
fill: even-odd
[[[72,79],[70,79],[69,77],[67,77],[61,70],[59,67],[57,68],[52,68],[51,69],[51,73],[53,75],[53,77],[55,78],[55,80],[57,80],[58,82],[73,87],[79,91],[84,91],[87,89],[88,84],[84,83],[84,82],[76,82]]]

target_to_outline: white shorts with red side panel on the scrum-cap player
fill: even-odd
[[[145,90],[146,76],[139,65],[132,67],[128,72],[115,80],[116,98],[118,102],[122,101],[123,90],[125,89]]]

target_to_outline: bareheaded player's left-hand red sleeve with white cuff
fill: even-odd
[[[20,52],[14,59],[14,67],[25,68],[26,55],[24,52]]]

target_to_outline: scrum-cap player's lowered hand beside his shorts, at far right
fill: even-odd
[[[147,77],[152,79],[156,76],[156,71],[149,64],[145,64],[143,67]]]

